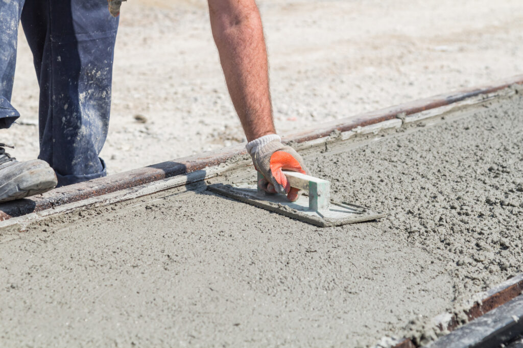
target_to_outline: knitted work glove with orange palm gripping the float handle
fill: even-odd
[[[258,187],[268,193],[287,194],[289,201],[296,201],[299,189],[290,187],[282,170],[308,174],[303,158],[292,147],[283,145],[281,137],[276,134],[257,138],[247,143],[246,148],[253,158],[254,167],[264,177],[258,181]]]

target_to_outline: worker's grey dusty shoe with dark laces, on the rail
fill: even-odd
[[[19,162],[4,147],[14,148],[0,143],[0,203],[44,193],[56,186],[58,180],[46,161]]]

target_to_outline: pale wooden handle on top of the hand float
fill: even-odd
[[[331,183],[327,180],[311,177],[295,171],[283,170],[291,187],[308,192],[309,209],[313,211],[329,210],[331,205]],[[263,178],[258,172],[258,181]],[[258,191],[260,189],[258,188]]]

